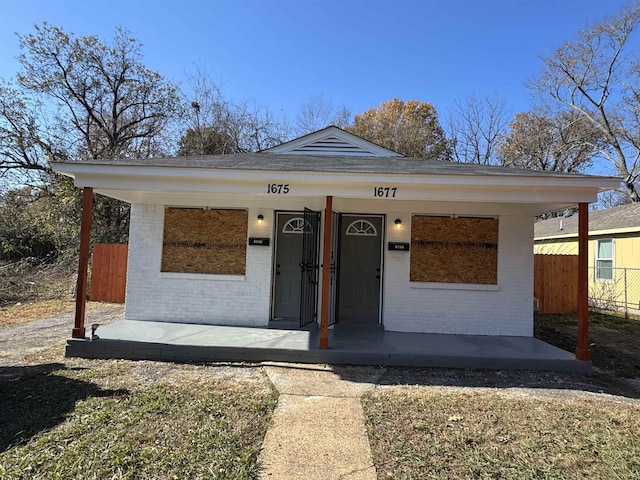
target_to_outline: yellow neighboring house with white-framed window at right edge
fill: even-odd
[[[534,225],[537,254],[578,254],[578,216]],[[589,212],[592,304],[640,308],[640,203]]]

